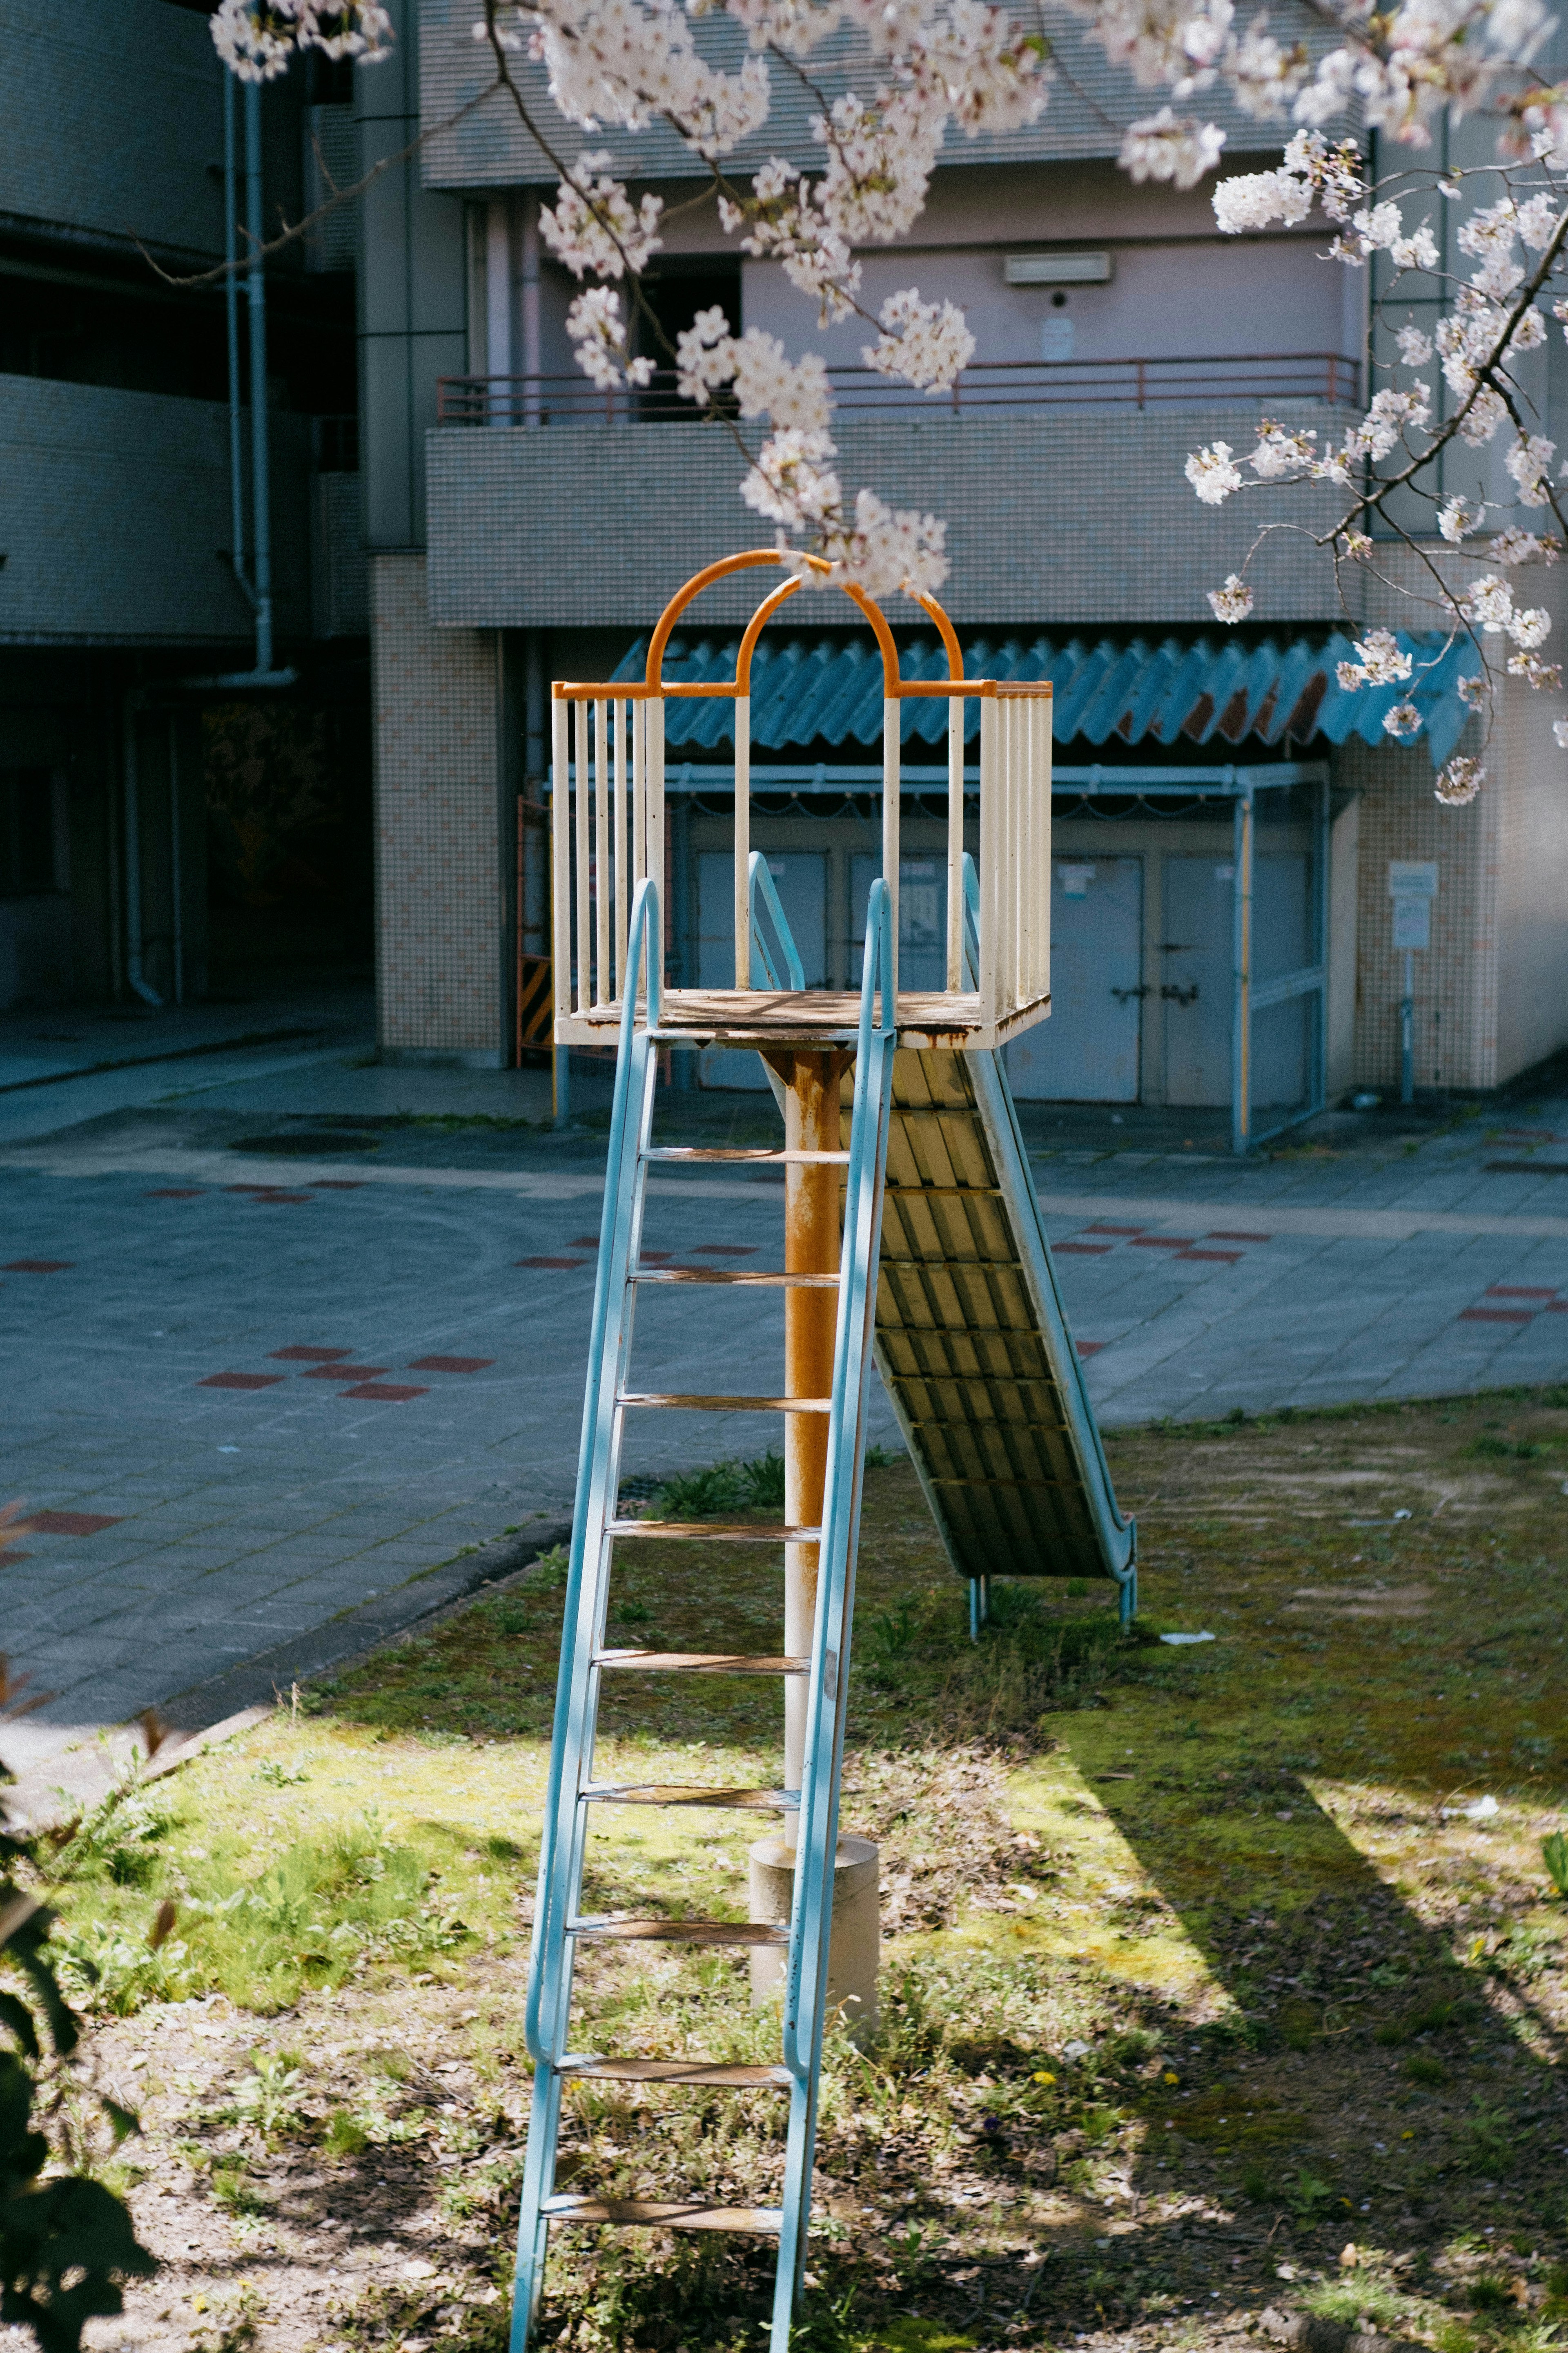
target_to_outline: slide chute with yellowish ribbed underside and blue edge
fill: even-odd
[[[1138,1607],[1084,1367],[994,1052],[898,1052],[877,1365],[959,1577],[1112,1577]]]

